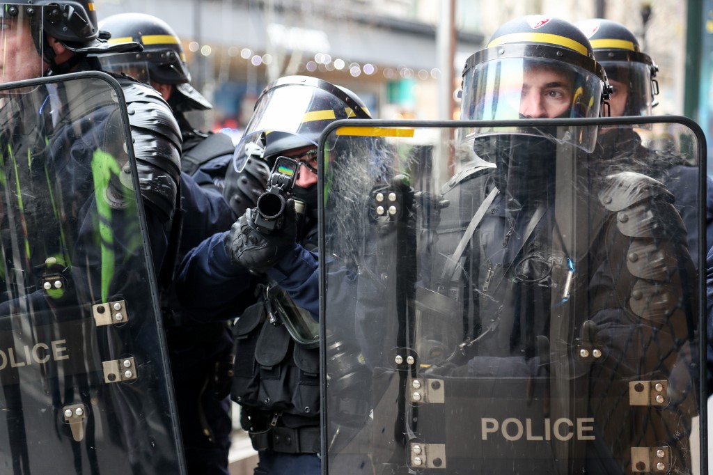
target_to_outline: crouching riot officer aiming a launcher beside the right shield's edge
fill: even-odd
[[[335,119],[354,117],[369,117],[361,100],[326,81],[287,76],[268,85],[238,144],[235,166],[242,168],[255,143],[270,167],[285,157],[296,160],[281,224],[272,233],[258,230],[259,208],[248,210],[229,233],[202,242],[181,265],[178,295],[186,307],[221,317],[225,305],[250,305],[235,325],[232,398],[260,455],[256,474],[320,473],[318,285],[311,280],[317,269],[317,141]],[[275,166],[270,183],[285,176],[289,170]],[[291,297],[313,305],[305,310]]]

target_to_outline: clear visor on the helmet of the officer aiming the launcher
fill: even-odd
[[[266,144],[266,157],[274,155],[273,151],[307,145],[316,147],[320,133],[330,122],[351,115],[351,109],[339,98],[319,88],[288,84],[267,91],[260,96],[245,134],[235,148],[235,170],[241,171],[254,150]],[[271,134],[274,135],[271,137]],[[279,138],[279,145],[277,140],[271,144],[271,138]],[[275,150],[271,150],[273,148]]]

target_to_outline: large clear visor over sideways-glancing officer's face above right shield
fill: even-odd
[[[510,121],[521,118],[598,117],[602,80],[594,73],[562,61],[503,58],[473,66],[463,76],[461,118],[477,121]],[[543,135],[543,129],[513,126],[474,128],[468,136],[508,133]],[[593,150],[595,127],[578,128],[558,141]]]

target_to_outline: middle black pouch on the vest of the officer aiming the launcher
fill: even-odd
[[[289,388],[294,384],[294,376],[290,377],[294,365],[287,358],[291,344],[292,339],[284,325],[270,322],[262,325],[255,347],[255,362],[260,371],[257,402],[262,408],[285,411],[292,406]]]

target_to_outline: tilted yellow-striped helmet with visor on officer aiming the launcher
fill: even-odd
[[[260,93],[255,112],[235,149],[235,169],[242,170],[258,143],[263,159],[293,148],[317,146],[329,123],[344,118],[371,118],[364,102],[352,91],[309,76],[285,76]]]

